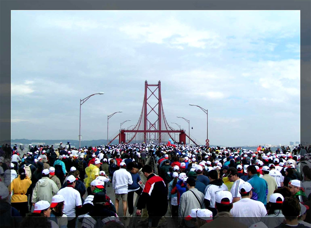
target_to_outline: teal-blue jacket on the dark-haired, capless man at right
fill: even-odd
[[[258,201],[262,202],[263,204],[267,204],[267,194],[268,194],[268,184],[267,181],[258,177],[257,174],[254,174],[249,177],[247,181],[253,187],[253,192],[257,193]]]

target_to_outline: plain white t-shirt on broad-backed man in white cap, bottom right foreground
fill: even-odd
[[[235,217],[235,220],[243,222],[243,224],[249,227],[256,222],[259,222],[261,217],[266,216],[267,210],[265,205],[260,201],[242,198],[233,203],[230,213]]]

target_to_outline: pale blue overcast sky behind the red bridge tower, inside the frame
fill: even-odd
[[[107,138],[144,82],[168,122],[211,145],[300,138],[299,11],[12,11],[12,139]],[[176,127],[172,125],[172,127]],[[110,137],[109,137],[110,138]],[[187,140],[188,142],[188,140]]]

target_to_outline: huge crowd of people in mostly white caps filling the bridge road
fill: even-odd
[[[311,227],[311,146],[67,142],[0,152],[11,153],[10,163],[0,157],[1,227],[125,227],[132,216],[158,227],[167,214],[179,227]]]

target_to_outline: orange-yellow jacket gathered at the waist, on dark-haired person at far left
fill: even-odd
[[[26,195],[26,192],[31,183],[32,183],[31,180],[27,176],[24,180],[21,180],[20,176],[15,178],[8,187],[8,189],[11,189],[11,192],[14,191],[11,202],[12,203],[27,202],[28,197]]]

